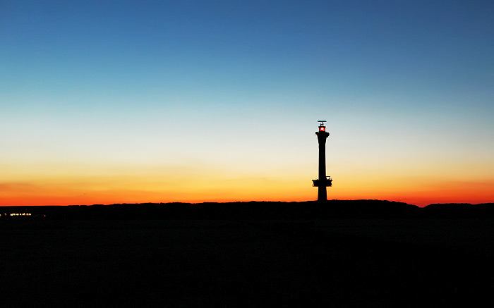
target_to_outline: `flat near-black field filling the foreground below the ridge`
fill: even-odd
[[[0,306],[493,307],[493,223],[0,221]]]

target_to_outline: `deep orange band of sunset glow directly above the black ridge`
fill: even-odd
[[[406,184],[407,180],[403,180]],[[400,181],[336,180],[328,199],[382,199],[415,204],[486,203],[494,201],[494,181],[433,182],[409,187]],[[1,184],[0,206],[76,205],[168,202],[248,202],[315,200],[317,190],[308,180],[244,178],[234,180],[176,180],[158,178],[99,178],[97,180],[37,180]]]

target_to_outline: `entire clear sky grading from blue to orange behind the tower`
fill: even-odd
[[[0,0],[0,205],[494,202],[494,1]]]

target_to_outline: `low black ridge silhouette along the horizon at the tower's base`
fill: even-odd
[[[30,216],[10,216],[29,213]],[[318,202],[205,202],[0,207],[0,219],[332,219],[494,218],[494,203],[429,204],[417,207],[386,200]]]

